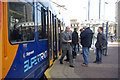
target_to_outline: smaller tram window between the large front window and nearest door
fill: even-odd
[[[47,13],[41,7],[41,11],[38,10],[38,40],[47,39],[47,36]]]

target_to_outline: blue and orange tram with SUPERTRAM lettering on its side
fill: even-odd
[[[40,78],[61,55],[55,10],[49,1],[30,1],[0,0],[0,79]]]

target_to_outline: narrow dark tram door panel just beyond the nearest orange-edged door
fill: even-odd
[[[57,59],[57,31],[56,31],[56,16],[52,15],[53,21],[53,60]]]

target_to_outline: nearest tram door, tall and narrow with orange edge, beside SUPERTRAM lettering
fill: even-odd
[[[49,46],[49,66],[53,64],[53,24],[52,14],[48,8],[48,46]]]

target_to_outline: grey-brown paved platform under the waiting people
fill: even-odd
[[[78,55],[74,60],[75,68],[69,67],[69,63],[64,61],[60,64],[56,60],[53,67],[48,71],[51,79],[55,78],[118,78],[118,44],[109,43],[108,56],[103,56],[102,64],[95,64],[95,53],[90,51],[89,67],[82,67],[82,55]],[[81,53],[81,52],[80,52]]]

